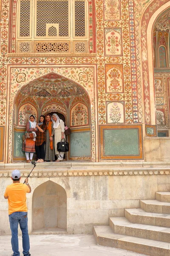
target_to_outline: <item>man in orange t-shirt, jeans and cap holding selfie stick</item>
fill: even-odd
[[[18,246],[18,223],[22,231],[23,255],[30,256],[29,236],[28,236],[28,208],[26,204],[26,193],[31,193],[31,187],[26,178],[26,184],[20,183],[21,174],[19,170],[14,170],[11,174],[13,183],[6,187],[4,198],[8,199],[9,223],[11,228],[11,245],[13,254],[20,256]]]

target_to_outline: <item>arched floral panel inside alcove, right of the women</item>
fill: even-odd
[[[82,103],[71,109],[71,126],[79,125],[88,125],[88,108]]]

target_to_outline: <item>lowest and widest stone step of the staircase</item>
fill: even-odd
[[[170,256],[169,243],[114,234],[110,226],[94,226],[97,244],[149,256]]]

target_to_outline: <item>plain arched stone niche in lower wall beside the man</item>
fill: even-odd
[[[33,230],[48,227],[67,228],[67,195],[51,180],[38,186],[33,194]]]

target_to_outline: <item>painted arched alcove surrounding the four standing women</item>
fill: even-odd
[[[71,113],[72,107],[77,103],[83,111],[80,113],[77,109]],[[66,159],[91,160],[91,105],[88,93],[81,85],[51,72],[23,86],[15,97],[14,106],[14,161],[25,160],[22,135],[25,133],[28,116],[33,111],[36,112],[37,122],[41,114],[59,112],[63,115],[65,125],[72,129],[71,135],[67,138],[70,151]],[[82,119],[82,122],[74,122],[73,125],[72,119]],[[80,147],[82,138],[87,145],[80,151],[81,148],[77,148],[74,141],[80,141]]]

